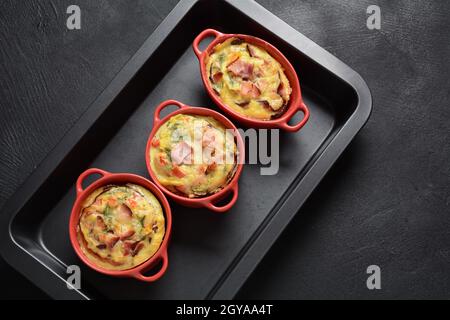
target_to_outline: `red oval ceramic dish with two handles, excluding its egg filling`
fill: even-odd
[[[215,39],[208,45],[208,47],[201,51],[199,48],[200,42],[207,38],[213,36]],[[239,38],[244,40],[245,42],[248,42],[250,44],[254,44],[256,46],[259,46],[263,49],[265,49],[275,60],[277,60],[281,66],[284,68],[284,72],[286,74],[286,77],[289,79],[289,82],[292,87],[292,93],[289,100],[289,104],[287,106],[286,112],[281,115],[281,117],[273,120],[257,120],[257,119],[251,119],[248,117],[245,117],[242,114],[237,113],[233,109],[229,108],[226,104],[224,104],[221,99],[214,93],[214,90],[212,89],[209,81],[208,76],[206,72],[206,58],[211,54],[214,47],[225,40],[229,38]],[[230,117],[232,117],[234,120],[244,124],[247,127],[252,128],[278,128],[290,132],[295,132],[300,130],[305,123],[308,121],[309,118],[309,110],[306,107],[305,103],[302,99],[302,94],[300,90],[300,83],[298,80],[297,73],[295,72],[295,69],[292,67],[291,63],[286,59],[286,57],[274,46],[272,46],[270,43],[245,34],[224,34],[214,29],[206,29],[202,31],[194,40],[192,44],[194,48],[194,52],[197,55],[199,62],[200,62],[200,73],[202,75],[203,84],[206,88],[206,91],[208,92],[209,96],[213,101],[223,110],[225,111]],[[291,126],[288,124],[289,120],[298,112],[303,112],[303,118],[302,120],[297,123],[296,125]]]

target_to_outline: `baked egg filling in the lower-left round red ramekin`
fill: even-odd
[[[142,186],[108,185],[84,201],[77,231],[89,260],[108,270],[126,270],[158,251],[165,219],[159,201]]]

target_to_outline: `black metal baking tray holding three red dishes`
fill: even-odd
[[[98,274],[70,246],[75,180],[88,167],[148,176],[144,150],[161,101],[215,108],[191,49],[210,27],[279,48],[297,70],[311,118],[300,132],[281,133],[277,175],[261,176],[260,165],[245,165],[238,202],[228,213],[171,202],[169,269],[160,281]],[[233,298],[371,108],[369,89],[355,71],[256,2],[183,0],[3,207],[1,254],[54,298]],[[80,290],[68,290],[64,281],[72,264],[81,267]]]

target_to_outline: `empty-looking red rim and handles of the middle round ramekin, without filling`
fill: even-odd
[[[165,107],[167,107],[169,105],[175,105],[179,109],[174,112],[171,112],[165,118],[160,119],[161,110],[163,110]],[[210,116],[210,117],[215,118],[217,121],[219,121],[226,129],[232,129],[233,132],[235,133],[237,149],[238,149],[237,169],[236,169],[236,172],[235,172],[233,178],[228,183],[228,185],[225,188],[223,188],[222,190],[220,190],[219,192],[209,195],[207,197],[202,197],[202,198],[183,197],[181,195],[171,192],[166,187],[164,187],[158,181],[156,175],[154,174],[154,172],[151,168],[151,165],[150,165],[150,148],[151,148],[152,139],[153,139],[154,135],[156,134],[156,132],[158,131],[158,129],[161,127],[161,125],[163,125],[163,123],[165,123],[167,120],[169,120],[170,117],[175,116],[177,114],[192,114],[192,115]],[[145,149],[145,161],[147,163],[148,172],[149,172],[150,176],[152,177],[153,181],[155,182],[155,184],[166,195],[168,195],[169,197],[174,199],[177,203],[187,206],[187,207],[192,207],[192,208],[206,207],[215,212],[228,211],[236,203],[236,200],[238,198],[238,180],[239,180],[239,176],[241,175],[241,172],[242,172],[242,167],[243,167],[243,163],[244,163],[243,159],[245,159],[245,148],[244,148],[244,142],[242,140],[242,137],[239,134],[239,132],[237,131],[237,128],[234,126],[234,124],[230,120],[228,120],[226,117],[221,115],[220,113],[213,111],[211,109],[187,106],[184,103],[181,103],[176,100],[164,101],[156,108],[155,115],[153,118],[153,130],[150,133],[150,136],[147,141],[147,148]],[[226,196],[228,196],[231,193],[233,193],[233,197],[226,205],[223,205],[223,206],[216,205],[217,202],[223,200]]]

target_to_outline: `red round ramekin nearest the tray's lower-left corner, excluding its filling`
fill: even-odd
[[[86,189],[83,189],[83,180],[86,179],[88,176],[92,174],[99,174],[102,177],[95,182],[93,182],[91,185],[89,185]],[[108,185],[108,184],[124,184],[124,183],[133,183],[140,185],[150,192],[153,193],[153,195],[159,200],[161,203],[161,206],[164,210],[164,216],[165,216],[165,223],[166,223],[166,230],[164,234],[163,242],[161,243],[161,246],[159,247],[158,251],[155,252],[155,254],[150,257],[148,260],[143,262],[142,264],[133,267],[131,269],[127,270],[108,270],[104,269],[102,267],[99,267],[95,265],[93,262],[91,262],[81,251],[80,244],[78,243],[77,239],[77,227],[80,219],[80,213],[81,213],[81,205],[83,204],[84,200],[96,189]],[[153,282],[161,278],[164,273],[167,270],[167,267],[169,265],[169,260],[167,257],[167,246],[170,239],[170,234],[172,230],[172,214],[170,211],[169,202],[167,201],[164,194],[159,190],[153,183],[148,181],[147,179],[134,175],[129,173],[109,173],[104,170],[100,169],[88,169],[85,172],[83,172],[77,180],[76,184],[77,189],[77,198],[75,200],[75,204],[72,208],[72,213],[70,215],[70,222],[69,222],[69,234],[70,234],[70,241],[72,243],[72,246],[77,253],[78,257],[89,267],[94,269],[95,271],[98,271],[100,273],[114,276],[114,277],[131,277],[136,278],[141,281],[146,282]],[[162,267],[161,269],[151,276],[146,276],[144,273],[152,268],[154,268],[159,261],[162,261]]]

